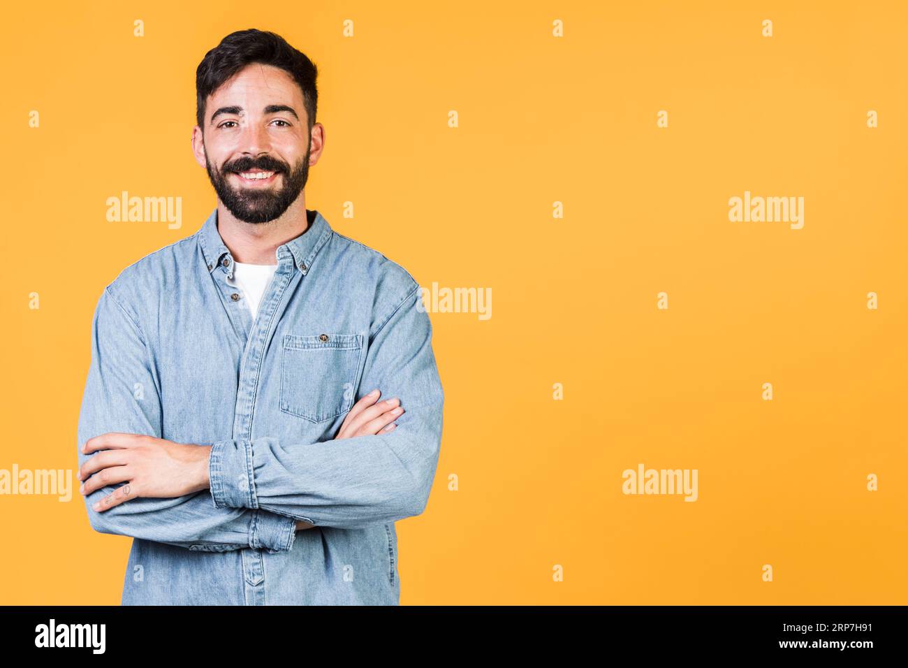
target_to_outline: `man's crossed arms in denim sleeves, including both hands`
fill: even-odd
[[[162,439],[146,338],[112,287],[94,312],[77,439],[84,502],[96,531],[191,550],[275,553],[291,549],[297,528],[389,523],[425,509],[444,396],[418,286],[373,334],[361,381],[400,397],[406,412],[391,414],[367,395],[333,441],[261,436],[213,444]],[[153,392],[137,399],[135,384]],[[395,420],[396,427],[379,431]],[[90,452],[83,452],[90,440]]]

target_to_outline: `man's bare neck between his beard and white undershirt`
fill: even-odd
[[[303,194],[281,215],[267,223],[237,220],[218,202],[218,232],[233,260],[242,264],[277,264],[278,246],[309,229]]]

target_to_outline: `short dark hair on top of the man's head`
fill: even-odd
[[[300,85],[311,135],[319,102],[319,91],[315,86],[318,68],[305,54],[287,44],[281,35],[255,28],[238,30],[224,37],[221,44],[205,54],[196,68],[195,122],[202,128],[202,132],[205,129],[205,100],[208,95],[212,95],[232,75],[252,63],[280,67]]]

